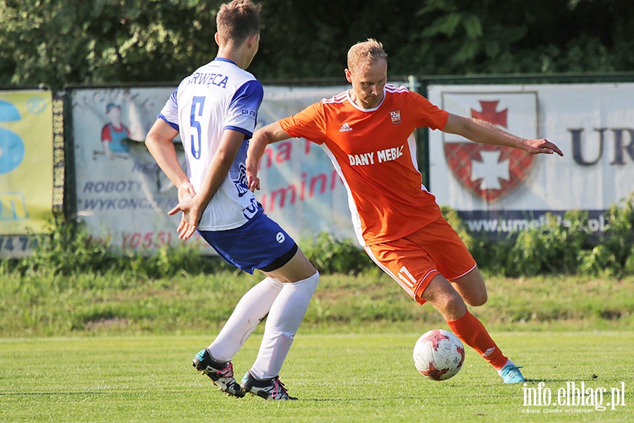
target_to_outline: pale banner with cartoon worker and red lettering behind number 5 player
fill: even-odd
[[[297,113],[346,90],[264,87],[257,127]],[[71,92],[77,218],[91,236],[115,250],[178,245],[176,189],[156,165],[144,139],[173,87],[91,88]],[[177,152],[182,145],[177,137]],[[181,161],[185,166],[185,161]],[[328,232],[354,239],[347,195],[321,147],[306,140],[271,145],[261,162],[256,199],[296,240]],[[187,241],[214,254],[196,235]]]

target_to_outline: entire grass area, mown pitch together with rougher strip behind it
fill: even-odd
[[[5,269],[0,422],[634,421],[633,278],[485,278],[489,301],[471,311],[524,366],[527,388],[543,382],[556,400],[566,383],[608,392],[625,384],[624,407],[559,413],[523,406],[524,386],[502,384],[470,349],[454,378],[424,379],[411,360],[414,342],[446,324],[374,270],[322,276],[280,375],[298,402],[223,396],[191,359],[260,279]],[[261,330],[235,357],[238,377],[254,361]]]

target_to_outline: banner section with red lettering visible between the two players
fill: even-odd
[[[258,127],[296,114],[348,88],[264,87]],[[321,232],[337,239],[356,239],[346,190],[319,145],[293,138],[269,145],[258,176],[261,190],[256,192],[256,200],[295,240]]]

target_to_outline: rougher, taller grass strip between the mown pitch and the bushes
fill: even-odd
[[[305,327],[338,331],[444,324],[378,268],[323,275]],[[0,275],[0,338],[84,334],[208,333],[261,275],[230,271],[149,278],[130,272]],[[473,313],[493,330],[634,330],[634,278],[487,277],[489,301]],[[368,329],[370,328],[370,329]]]

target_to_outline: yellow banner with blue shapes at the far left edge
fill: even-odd
[[[0,92],[0,255],[31,250],[53,216],[52,94]]]

